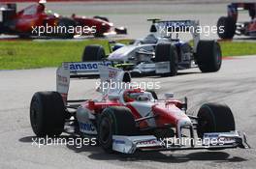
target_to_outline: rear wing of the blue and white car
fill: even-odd
[[[160,37],[170,37],[172,33],[190,33],[194,42],[194,51],[200,41],[199,20],[153,20],[156,32]],[[151,26],[151,27],[152,27]]]

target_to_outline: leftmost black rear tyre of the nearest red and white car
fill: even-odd
[[[37,92],[30,103],[30,124],[37,136],[58,136],[65,124],[65,106],[57,92]]]

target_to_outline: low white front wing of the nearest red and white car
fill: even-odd
[[[218,140],[210,143],[213,139]],[[205,133],[203,144],[185,146],[180,143],[168,143],[167,139],[159,140],[153,135],[142,136],[112,136],[112,150],[123,154],[134,154],[137,150],[140,151],[178,151],[178,150],[220,150],[220,149],[235,149],[235,148],[250,148],[247,144],[246,135],[239,131],[232,132],[216,132]]]

